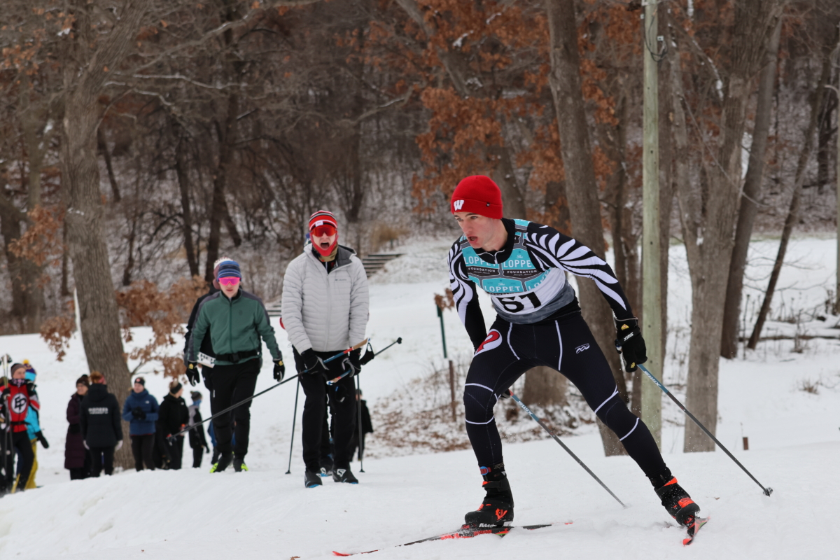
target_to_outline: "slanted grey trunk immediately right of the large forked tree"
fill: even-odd
[[[764,177],[764,159],[767,151],[767,138],[770,132],[770,114],[773,109],[773,92],[776,76],[776,62],[779,57],[779,38],[781,18],[767,46],[764,56],[764,68],[759,77],[759,95],[755,107],[755,126],[753,127],[753,145],[749,152],[747,176],[743,181],[741,207],[738,210],[738,226],[735,230],[735,244],[732,248],[732,260],[729,263],[727,280],[727,298],[723,311],[723,334],[721,337],[721,356],[732,359],[738,354],[738,323],[741,315],[741,296],[743,293],[743,272],[747,266],[749,238],[753,233],[753,223],[759,212],[756,201],[761,192]]]

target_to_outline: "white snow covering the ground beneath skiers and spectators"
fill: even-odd
[[[748,272],[753,285],[766,282],[762,278],[771,265],[766,258],[774,256],[775,244],[753,243]],[[404,340],[365,368],[361,381],[371,411],[377,400],[411,398],[406,389],[412,379],[443,364],[432,296],[447,285],[448,247],[448,240],[427,240],[401,248],[421,254],[422,261],[392,261],[371,284],[369,333],[375,347],[398,336]],[[664,381],[681,396],[690,283],[684,251],[675,246],[671,254]],[[796,265],[785,268],[780,281],[785,290],[774,303],[780,318],[797,309],[817,310],[834,286],[834,239],[798,239],[789,254]],[[754,301],[756,292],[751,293]],[[826,317],[825,322],[837,321]],[[452,311],[445,313],[445,322],[450,353],[468,352],[469,342]],[[280,338],[284,352],[291,352],[281,331]],[[629,505],[626,510],[555,442],[512,444],[506,447],[506,464],[517,524],[559,525],[513,531],[504,539],[481,536],[390,548],[372,557],[835,557],[829,537],[836,532],[832,496],[840,495],[833,476],[840,458],[840,341],[806,340],[801,352],[791,352],[794,346],[790,340],[768,341],[746,359],[721,364],[717,436],[762,484],[774,488],[772,497],[764,497],[721,451],[681,453],[684,418],[669,400],[663,401],[665,460],[702,513],[713,518],[692,547],[680,546],[681,531],[632,460],[605,458],[597,433],[584,427],[564,441]],[[469,450],[386,457],[375,437],[370,447],[379,458],[365,461],[358,486],[327,480],[323,488],[303,488],[299,418],[292,474],[284,474],[293,384],[255,401],[248,473],[211,476],[205,462],[201,469],[132,471],[71,483],[63,469],[65,410],[76,377],[86,373],[81,344],[74,342],[61,363],[34,335],[0,338],[0,351],[18,360],[29,358],[38,369],[42,424],[52,444],[39,448],[37,482],[43,488],[0,500],[3,558],[331,557],[333,550],[360,552],[452,530],[482,495]],[[150,392],[159,398],[165,394],[160,376],[147,379]],[[271,384],[266,367],[258,390]],[[207,415],[206,400],[203,409]],[[743,436],[749,437],[746,452]],[[564,525],[567,521],[573,523]]]

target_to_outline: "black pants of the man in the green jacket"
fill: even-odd
[[[208,368],[205,368],[207,371]],[[210,391],[210,411],[216,414],[240,400],[254,396],[257,375],[260,374],[260,359],[233,365],[217,365],[207,376],[213,390]],[[231,422],[236,421],[236,445],[232,445],[234,430]],[[213,432],[216,434],[216,447],[220,453],[234,452],[244,458],[248,453],[248,434],[251,427],[251,401],[237,406],[233,411],[225,412],[213,418]]]

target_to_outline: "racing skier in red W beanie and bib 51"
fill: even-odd
[[[490,178],[460,181],[450,208],[464,235],[449,251],[449,280],[461,321],[475,347],[464,388],[466,429],[484,478],[485,499],[465,521],[505,526],[513,495],[505,473],[493,406],[528,369],[562,372],[621,439],[677,522],[690,526],[698,505],[665,466],[654,437],[627,410],[601,348],[580,315],[565,271],[591,278],[612,307],[625,369],[647,361],[638,321],[609,264],[554,228],[501,217],[501,192]],[[491,296],[496,321],[486,332],[476,285]]]

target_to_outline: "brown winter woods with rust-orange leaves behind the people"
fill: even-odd
[[[692,285],[686,405],[713,430],[718,356],[746,334],[751,235],[837,227],[840,3],[662,2],[655,45],[642,13],[635,0],[4,0],[0,329],[60,352],[76,290],[88,364],[123,395],[129,327],[155,332],[131,359],[182,372],[167,344],[222,254],[271,301],[314,210],[336,212],[362,256],[398,251],[454,238],[449,195],[474,174],[501,186],[507,216],[611,250],[640,313],[653,53],[663,247],[685,244]],[[610,348],[606,303],[585,281],[579,296]],[[607,355],[638,410],[638,377]],[[549,401],[559,383],[528,374]],[[695,429],[686,450],[711,450]]]

